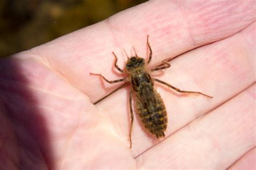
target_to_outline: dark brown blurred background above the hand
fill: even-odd
[[[82,29],[145,0],[0,0],[0,58]]]

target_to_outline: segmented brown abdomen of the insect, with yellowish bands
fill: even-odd
[[[159,93],[149,83],[143,82],[135,95],[137,113],[140,122],[150,133],[164,137],[167,127],[167,113]]]

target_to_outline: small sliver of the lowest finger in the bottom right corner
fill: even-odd
[[[255,169],[256,167],[256,147],[243,155],[228,169]]]

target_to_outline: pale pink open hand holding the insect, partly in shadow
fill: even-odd
[[[255,16],[255,1],[151,1],[2,60],[0,169],[255,169]],[[155,83],[166,137],[134,111],[130,149],[130,87],[93,105],[122,83],[90,72],[121,79],[112,52],[147,58],[147,35],[149,68],[189,51],[153,76],[214,98]]]

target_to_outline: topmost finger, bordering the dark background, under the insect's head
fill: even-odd
[[[90,72],[104,73],[110,80],[117,79],[112,69],[113,51],[121,68],[124,65],[122,48],[129,52],[135,46],[138,55],[146,58],[149,34],[153,66],[165,58],[244,29],[255,20],[253,6],[253,1],[147,2],[31,51],[42,56],[46,65],[94,102],[117,87],[105,89],[98,77],[89,75]],[[131,51],[129,54],[132,55]]]

